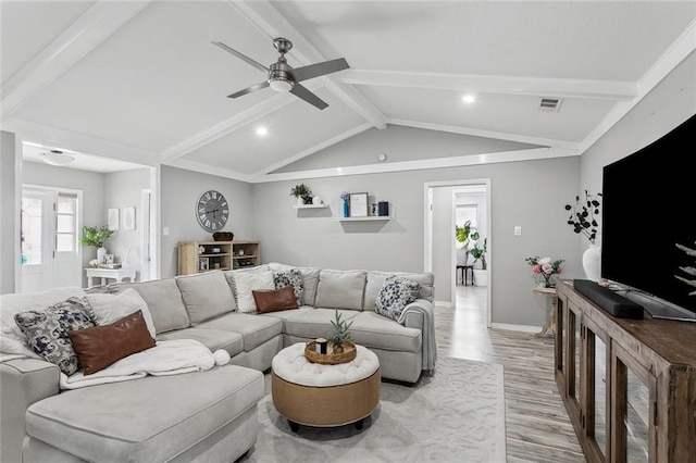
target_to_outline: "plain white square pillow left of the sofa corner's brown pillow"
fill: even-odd
[[[237,309],[232,289],[221,271],[183,275],[174,279],[194,326]]]

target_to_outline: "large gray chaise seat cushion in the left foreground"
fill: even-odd
[[[27,410],[26,430],[86,461],[164,462],[256,406],[263,395],[263,374],[235,365],[147,376],[40,400]]]

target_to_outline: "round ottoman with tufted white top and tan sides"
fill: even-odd
[[[341,426],[363,420],[380,402],[380,360],[362,346],[347,363],[323,365],[304,356],[304,342],[286,347],[271,364],[271,395],[290,429]]]

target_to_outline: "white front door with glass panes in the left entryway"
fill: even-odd
[[[82,286],[77,243],[82,192],[25,187],[22,192],[22,292]]]

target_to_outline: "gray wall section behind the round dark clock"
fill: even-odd
[[[213,239],[211,233],[198,225],[195,214],[198,197],[209,189],[222,192],[229,202],[225,232],[234,233],[235,239],[258,238],[253,234],[252,220],[257,210],[252,203],[251,185],[163,165],[160,171],[161,226],[162,229],[169,227],[170,235],[162,234],[161,237],[162,278],[176,275],[179,241]],[[258,213],[265,214],[266,211],[259,210]]]

